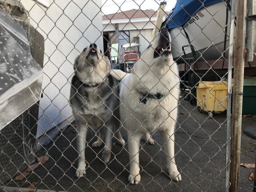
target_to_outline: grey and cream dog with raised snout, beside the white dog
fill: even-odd
[[[99,129],[93,147],[101,146],[105,138],[102,159],[109,162],[112,138],[117,134],[118,143],[124,145],[119,129],[120,100],[118,81],[110,74],[108,58],[96,44],[90,44],[75,59],[75,75],[70,91],[70,105],[77,124],[77,149],[79,152],[76,176],[86,173],[85,146],[89,128]],[[115,129],[116,128],[116,129]]]

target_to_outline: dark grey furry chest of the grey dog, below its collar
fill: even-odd
[[[100,118],[104,121],[118,107],[118,94],[118,81],[111,75],[95,88],[85,85],[74,75],[70,103],[73,110],[76,110],[74,112],[78,112],[84,119]]]

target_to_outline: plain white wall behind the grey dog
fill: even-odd
[[[20,2],[45,39],[43,98],[37,128],[40,137],[72,116],[68,100],[75,57],[89,43],[103,49],[101,0],[49,0],[48,9],[33,0]]]

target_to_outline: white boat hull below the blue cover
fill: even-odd
[[[226,26],[227,33],[225,33]],[[186,58],[193,57],[190,46],[184,47],[183,52],[182,46],[185,45],[194,47],[196,59],[200,61],[227,58],[229,33],[230,10],[224,2],[213,4],[197,12],[185,27],[176,27],[170,31],[173,58],[178,63],[184,63],[184,52]],[[224,42],[226,42],[226,46],[224,46]]]

